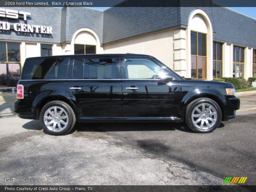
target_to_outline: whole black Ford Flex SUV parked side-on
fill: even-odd
[[[61,135],[77,122],[186,121],[209,133],[240,108],[232,84],[185,80],[156,58],[137,54],[28,58],[14,111]]]

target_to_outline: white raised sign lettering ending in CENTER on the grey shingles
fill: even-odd
[[[24,21],[27,20],[27,16],[30,16],[29,12],[15,11],[9,9],[0,8],[0,17],[18,19],[23,18]],[[7,21],[0,21],[0,30],[10,30],[11,24]],[[28,33],[41,33],[41,34],[52,34],[52,27],[42,26],[42,25],[29,25],[22,23],[13,24],[14,31],[17,32],[28,32]]]

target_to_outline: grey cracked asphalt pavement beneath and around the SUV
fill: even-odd
[[[237,117],[209,134],[184,123],[106,123],[76,124],[65,136],[20,119],[15,96],[0,95],[0,185],[220,185],[235,176],[256,185],[256,94],[239,96]]]

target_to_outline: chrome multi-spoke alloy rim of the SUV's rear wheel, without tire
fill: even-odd
[[[50,131],[60,132],[68,125],[68,114],[61,107],[50,107],[44,113],[44,124]]]

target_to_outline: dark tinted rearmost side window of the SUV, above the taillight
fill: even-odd
[[[67,79],[68,59],[47,58],[28,60],[22,72],[22,79]]]

